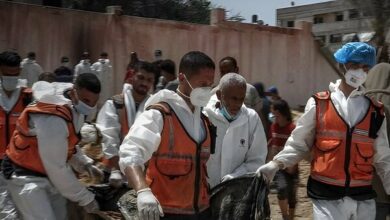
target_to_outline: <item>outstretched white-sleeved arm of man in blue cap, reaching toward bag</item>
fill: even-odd
[[[284,149],[273,160],[282,163],[284,168],[291,167],[301,161],[313,145],[315,128],[316,104],[314,98],[310,98],[306,104],[305,113],[298,119]]]

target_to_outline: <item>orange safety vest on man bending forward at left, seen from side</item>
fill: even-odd
[[[70,159],[70,157],[76,152],[75,145],[79,142],[79,137],[77,136],[73,126],[72,110],[66,105],[54,105],[38,102],[34,105],[27,106],[17,121],[16,130],[12,135],[6,151],[7,156],[13,163],[22,168],[46,175],[46,170],[38,152],[37,137],[30,133],[30,114],[54,115],[65,120],[69,132],[68,159]]]

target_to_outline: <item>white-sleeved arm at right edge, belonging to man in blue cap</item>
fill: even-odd
[[[374,142],[374,167],[381,178],[383,187],[388,195],[390,195],[390,148],[389,137],[387,136],[386,118],[378,131],[378,137]]]

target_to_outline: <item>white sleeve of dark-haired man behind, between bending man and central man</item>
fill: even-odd
[[[96,126],[99,128],[103,136],[102,150],[104,157],[106,159],[118,157],[121,124],[112,100],[106,101],[100,109],[96,119]]]

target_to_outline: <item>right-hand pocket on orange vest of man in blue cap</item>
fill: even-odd
[[[355,167],[365,173],[373,171],[372,158],[374,156],[374,149],[371,143],[355,143],[356,156]]]

